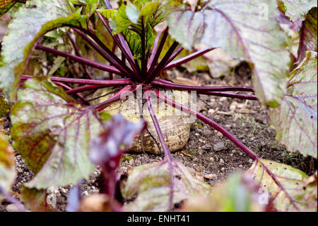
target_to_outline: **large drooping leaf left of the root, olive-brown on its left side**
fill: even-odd
[[[12,109],[11,137],[36,174],[28,188],[47,188],[88,178],[94,166],[88,152],[108,114],[96,115],[75,103],[47,78],[28,79]]]

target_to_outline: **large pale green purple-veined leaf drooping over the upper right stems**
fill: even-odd
[[[290,57],[276,6],[272,0],[261,5],[258,0],[213,0],[198,12],[173,8],[169,33],[189,50],[203,43],[254,64],[259,101],[277,107],[285,94]]]

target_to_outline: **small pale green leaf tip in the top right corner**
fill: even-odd
[[[278,9],[290,18],[290,21],[305,20],[312,7],[317,7],[316,0],[276,0]]]

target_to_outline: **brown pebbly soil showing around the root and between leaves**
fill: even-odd
[[[224,79],[211,79],[205,73],[187,74],[183,69],[174,70],[169,72],[168,75],[170,79],[182,76],[201,85],[251,85],[250,71],[245,64],[237,67],[232,76]],[[199,100],[197,103],[198,111],[240,138],[259,157],[289,164],[305,171],[309,175],[317,170],[317,159],[312,157],[305,158],[297,153],[289,153],[283,145],[279,145],[276,142],[275,130],[270,126],[269,115],[266,109],[259,106],[257,101],[202,95],[199,96]],[[8,130],[11,127],[10,122],[8,118],[3,120],[7,122],[5,130]],[[225,180],[235,171],[249,169],[249,166],[252,165],[252,159],[247,154],[233,145],[220,132],[201,123],[199,120],[196,120],[196,124],[192,127],[187,145],[182,150],[173,153],[172,156],[187,166],[189,171],[196,175],[198,179],[202,178],[202,175],[206,176],[204,180],[212,186],[218,181]],[[162,156],[154,154],[126,153],[120,163],[119,171],[126,172],[131,167],[157,162],[162,159]],[[22,183],[33,179],[33,173],[23,163],[23,159],[18,154],[16,154],[16,163],[18,176],[12,191],[17,194],[20,193]],[[83,196],[98,193],[100,186],[100,169],[96,169],[90,179],[81,184]],[[57,196],[58,211],[65,210],[68,192],[71,187],[66,186],[54,190]],[[8,203],[0,204],[0,211],[6,211],[6,205]]]

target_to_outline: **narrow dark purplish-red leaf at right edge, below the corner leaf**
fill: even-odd
[[[311,9],[306,17],[300,28],[298,63],[302,62],[307,51],[317,52],[317,7]]]

